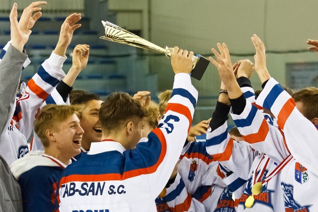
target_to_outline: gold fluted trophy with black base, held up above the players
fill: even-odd
[[[113,23],[108,21],[101,22],[105,28],[105,35],[101,36],[101,39],[163,53],[167,58],[171,57],[172,55],[172,48],[167,46],[165,48],[161,48]],[[210,61],[201,55],[193,56],[192,61],[193,66],[190,75],[193,78],[200,80]]]

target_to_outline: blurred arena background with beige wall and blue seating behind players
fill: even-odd
[[[31,2],[16,1],[19,8]],[[34,45],[41,45],[41,40],[46,40],[44,31],[59,31],[63,17],[81,12],[83,26],[74,37],[69,52],[82,42],[95,47],[91,48],[91,62],[84,70],[86,73],[81,75],[75,88],[102,96],[112,91],[133,94],[138,90],[150,90],[155,100],[158,92],[172,88],[173,71],[169,59],[155,52],[99,39],[104,33],[101,20],[113,22],[161,47],[178,46],[206,57],[212,55],[211,48],[216,48],[217,42],[225,42],[232,62],[241,59],[254,61],[250,37],[256,33],[265,43],[267,67],[274,78],[294,88],[318,86],[318,55],[307,51],[306,44],[307,39],[318,39],[317,0],[47,1],[42,12],[50,22],[37,23],[38,28],[34,31],[38,32],[38,37],[31,35],[35,38],[28,43],[29,56],[38,64],[35,63],[33,70],[23,75],[26,79],[52,51],[45,45],[45,49],[33,49]],[[8,17],[12,4],[12,0],[0,0],[1,16]],[[9,34],[5,34],[9,29],[5,28],[4,20],[0,22],[3,22],[0,23],[0,43],[3,45],[9,39]],[[58,35],[49,39],[52,41],[50,45],[54,46],[57,39]],[[70,66],[70,63],[65,65],[66,72]],[[255,90],[261,88],[255,74],[251,81]],[[196,124],[211,116],[220,80],[210,64],[201,81],[192,79],[192,82],[199,91],[193,122]]]

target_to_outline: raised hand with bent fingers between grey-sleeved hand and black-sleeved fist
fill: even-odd
[[[65,19],[61,26],[58,44],[56,45],[56,48],[54,50],[55,54],[62,57],[65,56],[66,50],[72,41],[73,32],[81,26],[81,24],[77,24],[80,19],[80,13],[73,13]]]

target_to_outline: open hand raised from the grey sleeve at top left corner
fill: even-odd
[[[17,3],[14,3],[10,12],[10,29],[11,29],[11,45],[22,52],[24,45],[29,40],[31,34],[31,28],[34,26],[34,23],[41,17],[41,12],[36,12],[32,15],[33,12],[39,11],[42,8],[39,7],[42,4],[46,4],[46,1],[36,1],[32,2],[28,7],[26,7],[21,15],[20,21],[17,21]]]

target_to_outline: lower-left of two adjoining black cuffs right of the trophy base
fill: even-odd
[[[211,131],[216,130],[222,126],[229,119],[229,112],[231,107],[227,104],[217,101],[215,111],[212,114],[212,120],[210,122]]]

